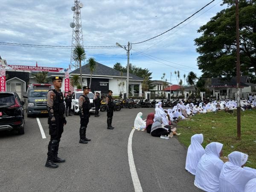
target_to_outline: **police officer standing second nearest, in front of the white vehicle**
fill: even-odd
[[[79,96],[79,110],[80,110],[80,140],[79,143],[87,144],[90,139],[86,138],[86,128],[90,117],[90,99],[87,97],[90,88],[88,86],[83,87],[83,94]]]

